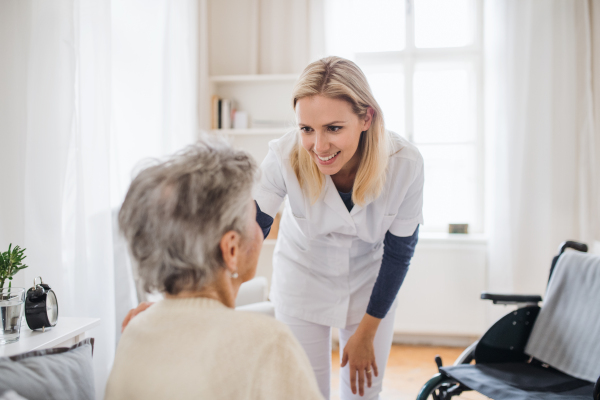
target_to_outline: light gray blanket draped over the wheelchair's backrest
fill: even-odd
[[[600,257],[576,251],[558,260],[525,352],[590,382],[600,376]]]

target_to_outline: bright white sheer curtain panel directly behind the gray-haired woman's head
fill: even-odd
[[[118,339],[120,322],[138,297],[116,214],[148,158],[171,154],[196,137],[199,10],[196,0],[112,0],[111,11],[110,191]]]

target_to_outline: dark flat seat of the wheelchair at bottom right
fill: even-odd
[[[592,382],[527,363],[442,367],[447,376],[494,400],[590,400]]]

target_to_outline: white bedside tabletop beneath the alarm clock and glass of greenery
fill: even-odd
[[[45,332],[32,331],[23,319],[18,342],[0,345],[0,357],[14,356],[31,350],[70,347],[86,338],[86,332],[100,325],[99,318],[59,317],[55,327]]]

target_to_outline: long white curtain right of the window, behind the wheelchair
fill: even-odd
[[[490,290],[543,294],[560,242],[600,239],[593,3],[484,2]]]

